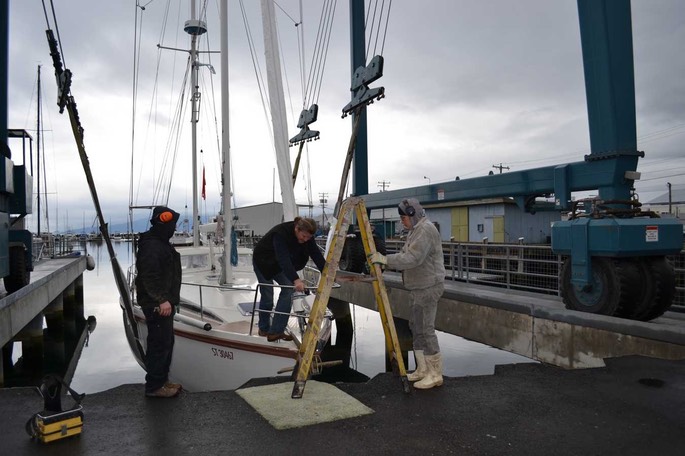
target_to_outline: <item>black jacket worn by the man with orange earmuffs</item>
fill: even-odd
[[[140,235],[136,259],[136,291],[141,307],[157,307],[169,301],[175,308],[181,299],[181,256],[169,239],[175,224],[153,225]]]

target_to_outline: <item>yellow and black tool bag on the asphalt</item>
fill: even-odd
[[[75,401],[75,405],[69,410],[62,410],[62,386],[69,390]],[[43,397],[44,409],[26,422],[26,432],[31,439],[48,443],[81,434],[83,429],[81,401],[86,395],[72,390],[61,377],[54,374],[43,378],[39,392]]]

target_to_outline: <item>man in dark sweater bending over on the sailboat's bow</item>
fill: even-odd
[[[292,222],[271,228],[255,246],[252,257],[254,271],[259,283],[266,284],[259,288],[259,335],[266,336],[269,342],[292,340],[292,336],[284,333],[292,307],[292,294],[293,291],[305,290],[297,271],[303,269],[310,258],[319,271],[323,271],[326,264],[314,241],[314,233],[314,220],[296,217]],[[274,307],[273,281],[284,287],[278,296],[273,321],[270,321]]]

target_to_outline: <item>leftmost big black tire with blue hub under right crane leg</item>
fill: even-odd
[[[592,279],[587,290],[571,283],[571,259],[561,269],[561,296],[567,309],[602,315],[615,315],[626,308],[639,286],[622,264],[610,258],[592,259]]]

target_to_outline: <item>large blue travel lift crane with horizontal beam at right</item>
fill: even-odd
[[[363,0],[351,0],[357,3],[363,11]],[[666,255],[681,251],[682,225],[642,211],[634,191],[644,152],[637,150],[630,1],[578,0],[578,16],[591,143],[583,161],[440,183],[439,198],[438,186],[430,183],[367,194],[367,151],[358,138],[354,194],[364,195],[369,210],[407,197],[422,204],[512,197],[529,213],[568,212],[568,220],[552,226],[552,250],[565,258],[560,289],[566,307],[647,321],[673,301],[675,272]],[[357,29],[352,26],[353,68],[364,55],[364,35]],[[572,201],[578,191],[598,196]],[[553,203],[538,200],[552,195]]]

